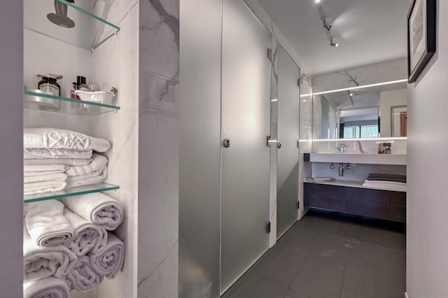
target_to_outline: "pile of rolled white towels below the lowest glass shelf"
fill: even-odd
[[[69,298],[114,278],[125,244],[110,231],[123,217],[123,206],[100,192],[25,204],[24,297]]]

